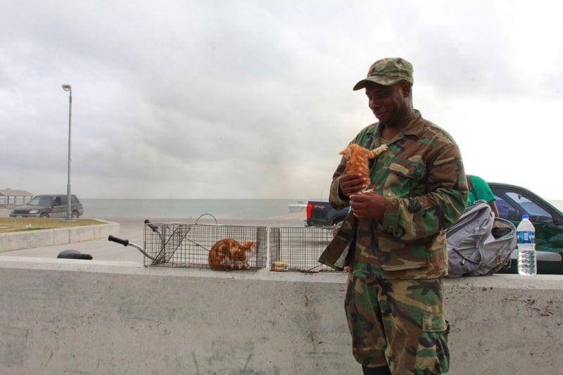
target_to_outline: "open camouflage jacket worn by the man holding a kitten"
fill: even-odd
[[[379,122],[352,143],[381,145]],[[344,208],[339,191],[343,158],[332,179],[329,201]],[[353,276],[378,279],[434,279],[448,273],[444,231],[462,214],[467,182],[460,150],[451,136],[417,114],[370,165],[370,189],[385,198],[384,217],[358,219],[350,212],[319,261]],[[350,246],[351,245],[351,246]],[[348,248],[350,252],[348,253]],[[343,262],[346,258],[346,262]]]

